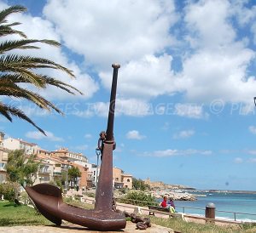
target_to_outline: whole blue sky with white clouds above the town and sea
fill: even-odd
[[[115,166],[136,178],[197,189],[256,190],[255,1],[0,1],[22,4],[29,38],[55,39],[26,53],[73,70],[71,96],[40,92],[65,113],[20,106],[48,137],[26,122],[0,117],[7,136],[45,150],[67,147],[96,162],[98,134],[107,127],[111,65],[119,69]]]

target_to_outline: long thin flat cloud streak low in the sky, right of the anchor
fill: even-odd
[[[179,151],[179,150],[167,149],[165,151],[152,151],[152,152],[146,151],[140,156],[167,157],[167,156],[191,156],[191,155],[209,156],[209,155],[212,155],[212,151],[200,151],[195,149]]]

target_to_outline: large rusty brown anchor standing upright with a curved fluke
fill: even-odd
[[[96,189],[95,209],[73,207],[63,202],[61,190],[55,185],[26,186],[27,194],[38,211],[51,222],[61,225],[61,219],[93,230],[120,230],[125,228],[125,214],[114,212],[113,207],[113,120],[117,77],[120,65],[113,64],[113,80],[108,112],[106,139],[102,142],[102,166]]]

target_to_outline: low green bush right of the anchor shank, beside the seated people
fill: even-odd
[[[119,202],[126,204],[139,205],[146,207],[148,205],[157,205],[155,197],[150,194],[146,194],[143,191],[131,191],[128,192],[125,197],[119,198]]]

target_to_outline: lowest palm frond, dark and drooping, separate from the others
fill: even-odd
[[[29,117],[27,117],[23,111],[20,111],[20,109],[17,109],[9,105],[3,105],[3,103],[0,102],[0,114],[6,117],[10,122],[12,122],[11,116],[19,117],[25,120],[26,122],[31,123],[32,126],[34,126],[35,128],[38,128],[38,130],[46,136],[44,130],[42,128],[39,128],[34,122],[32,122],[32,120]]]

